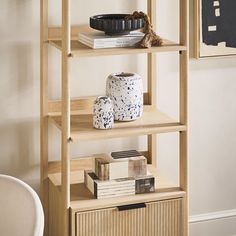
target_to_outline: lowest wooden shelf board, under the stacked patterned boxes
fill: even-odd
[[[185,192],[173,184],[168,178],[158,176],[157,171],[153,166],[148,165],[148,169],[154,176],[156,176],[156,190],[154,193],[108,198],[105,201],[104,199],[94,198],[90,191],[85,187],[83,170],[72,171],[70,207],[76,211],[86,211],[104,207],[166,200],[185,196]],[[61,173],[50,174],[49,179],[53,185],[55,185],[59,190],[61,189]]]

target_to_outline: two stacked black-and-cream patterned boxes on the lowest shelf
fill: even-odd
[[[84,183],[98,199],[155,191],[147,159],[135,150],[97,155],[93,169],[84,172]]]

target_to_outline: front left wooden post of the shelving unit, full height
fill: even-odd
[[[62,0],[62,132],[61,132],[61,183],[62,183],[62,235],[69,235],[70,207],[70,76],[71,50],[70,0]]]

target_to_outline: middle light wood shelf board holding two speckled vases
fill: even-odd
[[[61,129],[61,116],[49,115],[51,120]],[[115,122],[112,129],[97,130],[92,125],[92,114],[71,115],[71,138],[72,140],[95,140],[106,138],[118,138],[126,136],[140,136],[155,133],[185,131],[186,126],[176,122],[166,114],[151,107],[144,106],[141,118],[129,122]]]

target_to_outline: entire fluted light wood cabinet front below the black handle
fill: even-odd
[[[76,213],[76,236],[181,236],[181,199]]]

